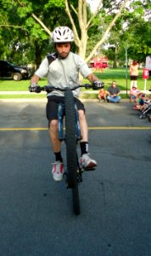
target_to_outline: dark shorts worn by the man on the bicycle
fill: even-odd
[[[74,100],[76,102],[77,109],[83,110],[85,112],[83,103],[81,103],[81,101],[76,97],[74,98]],[[48,96],[48,103],[46,105],[46,115],[49,123],[53,119],[58,119],[58,106],[61,102],[64,102],[64,96]]]

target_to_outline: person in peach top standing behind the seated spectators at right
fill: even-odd
[[[138,68],[139,68],[138,62],[136,60],[132,61],[130,65],[131,88],[133,85],[137,87],[137,79],[139,74]]]

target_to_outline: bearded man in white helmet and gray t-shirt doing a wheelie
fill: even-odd
[[[59,88],[69,86],[74,87],[79,83],[79,73],[87,78],[91,83],[102,84],[98,77],[92,74],[86,62],[79,56],[70,51],[71,42],[74,40],[73,32],[67,26],[59,26],[54,29],[52,40],[56,52],[48,55],[41,63],[36,73],[31,78],[31,87],[36,87],[38,80],[48,76],[48,84]],[[96,160],[92,160],[88,155],[88,129],[85,108],[78,99],[80,90],[74,90],[74,99],[78,108],[79,121],[81,127],[81,158],[80,166],[83,169],[94,168],[97,166]],[[60,181],[64,174],[64,163],[61,155],[61,143],[58,137],[58,105],[64,102],[64,92],[53,90],[48,93],[48,103],[46,107],[49,137],[51,139],[55,162],[53,164],[53,179]]]

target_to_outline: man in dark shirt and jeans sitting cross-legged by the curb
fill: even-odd
[[[113,81],[112,85],[108,88],[107,101],[117,103],[120,102],[120,88],[116,85],[116,82]]]

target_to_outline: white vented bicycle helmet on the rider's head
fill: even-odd
[[[67,43],[74,40],[74,34],[68,26],[59,26],[53,30],[53,43]]]

